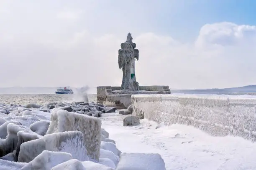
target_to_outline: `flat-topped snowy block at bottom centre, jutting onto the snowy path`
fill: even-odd
[[[158,153],[122,153],[116,170],[165,170]]]

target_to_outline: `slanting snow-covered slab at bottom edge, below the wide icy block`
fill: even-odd
[[[72,159],[70,153],[44,150],[35,159],[23,166],[21,170],[51,170],[56,165]]]

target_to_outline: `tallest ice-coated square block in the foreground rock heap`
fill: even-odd
[[[67,110],[52,110],[51,123],[46,134],[78,130],[82,132],[87,155],[94,160],[100,158],[101,120]],[[73,157],[74,158],[74,157]]]

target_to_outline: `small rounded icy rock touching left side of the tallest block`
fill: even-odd
[[[38,135],[44,136],[49,128],[50,122],[51,121],[49,120],[40,120],[38,122],[34,122],[30,125],[30,129]]]

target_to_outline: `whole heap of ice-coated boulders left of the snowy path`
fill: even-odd
[[[0,104],[0,170],[114,170],[121,152],[94,102]]]

